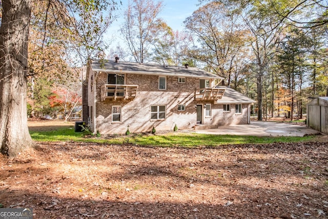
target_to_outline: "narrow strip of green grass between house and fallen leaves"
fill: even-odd
[[[219,146],[228,144],[265,144],[281,142],[304,142],[313,140],[314,136],[241,136],[241,135],[213,135],[199,133],[169,132],[166,134],[131,134],[106,137],[85,137],[83,132],[74,132],[73,127],[58,128],[51,131],[30,131],[34,141],[58,142],[74,141],[100,144],[132,143],[142,146],[158,147],[198,147]]]

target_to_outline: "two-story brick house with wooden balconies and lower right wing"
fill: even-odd
[[[221,77],[186,67],[93,61],[88,108],[92,131],[122,134],[250,123],[254,101],[215,85]]]

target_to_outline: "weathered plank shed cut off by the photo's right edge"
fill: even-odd
[[[315,97],[306,105],[306,126],[328,134],[328,97]]]

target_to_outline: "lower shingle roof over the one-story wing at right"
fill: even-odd
[[[238,104],[251,104],[255,103],[253,99],[239,93],[238,91],[224,86],[217,86],[217,88],[226,88],[226,91],[224,92],[224,95],[221,99],[217,101],[217,103],[220,104],[229,104],[229,103],[238,103]]]

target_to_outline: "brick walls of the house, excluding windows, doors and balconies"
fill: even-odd
[[[106,99],[100,101],[100,86],[107,84],[107,73],[100,72],[96,83],[96,126],[101,134],[123,134],[128,127],[130,132],[156,130],[192,129],[196,125],[196,105],[211,104],[212,115],[203,116],[204,125],[247,124],[248,105],[242,104],[242,113],[235,114],[235,105],[231,112],[223,113],[223,105],[214,101],[194,101],[194,91],[199,89],[199,78],[186,77],[186,83],[178,83],[177,76],[167,76],[167,89],[158,89],[158,76],[126,74],[127,85],[138,85],[134,99]],[[90,92],[89,92],[90,94]],[[92,98],[89,98],[91,102]],[[90,102],[89,102],[90,103]],[[92,104],[92,103],[90,103]],[[178,111],[178,105],[184,104],[185,111]],[[166,106],[165,120],[151,120],[151,106]],[[121,107],[121,122],[112,122],[112,106]],[[203,113],[205,113],[205,109]],[[96,131],[93,130],[93,131]]]

